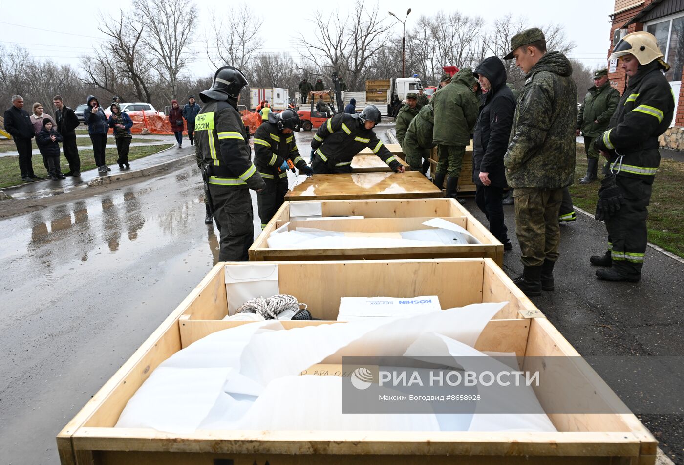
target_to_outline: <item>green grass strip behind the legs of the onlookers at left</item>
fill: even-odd
[[[139,158],[153,155],[154,153],[168,149],[169,147],[174,147],[174,145],[175,144],[163,144],[131,147],[131,151],[129,152],[129,161],[132,162],[133,160],[138,160]],[[88,171],[97,168],[92,155],[92,150],[81,150],[79,151],[79,156],[81,158],[81,171]],[[116,153],[116,149],[105,150],[105,160],[107,160],[107,164],[109,166],[117,166],[117,158],[118,154]],[[47,177],[47,170],[43,165],[42,156],[34,155],[32,162],[36,175],[40,177]],[[69,170],[69,164],[66,162],[64,154],[60,155],[60,166],[62,166],[62,172]],[[135,166],[131,166],[131,168],[135,168]],[[118,169],[118,166],[116,169]],[[16,186],[17,184],[22,184],[21,173],[19,172],[18,156],[0,157],[0,189],[9,186]]]

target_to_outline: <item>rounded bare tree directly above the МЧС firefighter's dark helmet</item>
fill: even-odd
[[[245,71],[263,45],[259,35],[263,17],[246,3],[231,8],[227,21],[218,19],[215,13],[210,16],[213,16],[212,30],[205,37],[207,58],[215,68],[228,64]]]

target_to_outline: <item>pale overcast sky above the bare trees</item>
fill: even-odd
[[[371,8],[374,3],[366,1]],[[215,71],[205,59],[202,38],[210,29],[209,18],[213,12],[228,14],[236,8],[235,0],[202,0],[197,3],[194,12],[198,24],[193,45],[196,59],[187,73],[192,75],[212,75]],[[324,1],[275,1],[257,0],[249,3],[257,13],[263,16],[263,24],[267,27],[268,37],[263,45],[266,53],[291,53],[297,57],[302,45],[296,36],[302,32],[313,38],[315,26],[307,21],[311,14],[306,12],[306,5],[313,8],[324,8],[325,5],[337,5],[341,12],[353,8],[352,1],[333,3]],[[427,5],[431,6],[428,7]],[[79,57],[89,53],[92,47],[103,39],[97,29],[98,14],[118,14],[120,9],[130,9],[132,1],[73,1],[73,0],[0,0],[0,43],[5,47],[21,45],[29,49],[36,57],[51,58],[55,62],[79,64]],[[576,47],[569,58],[575,58],[591,66],[607,66],[607,51],[610,38],[608,15],[613,12],[614,1],[610,0],[577,0],[560,2],[553,0],[478,0],[451,2],[419,2],[415,0],[380,0],[380,14],[386,15],[386,21],[395,24],[397,34],[402,33],[402,25],[387,14],[391,10],[403,18],[408,8],[412,8],[406,22],[411,29],[421,14],[434,14],[434,5],[439,5],[444,12],[460,10],[469,16],[482,16],[488,23],[509,12],[514,16],[525,16],[532,26],[544,26],[550,23],[561,23],[566,36],[575,42]],[[188,12],[191,14],[191,12]]]

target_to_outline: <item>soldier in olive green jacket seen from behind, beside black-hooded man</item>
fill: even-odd
[[[434,184],[442,188],[447,178],[447,195],[457,199],[458,177],[461,173],[466,145],[471,140],[479,115],[479,99],[475,95],[477,81],[471,68],[463,68],[453,75],[451,82],[432,96],[434,108],[433,140],[437,144],[439,161]]]

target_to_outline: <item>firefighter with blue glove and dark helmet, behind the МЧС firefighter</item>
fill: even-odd
[[[313,175],[313,170],[300,155],[292,133],[299,132],[300,125],[297,112],[287,108],[280,113],[269,113],[267,123],[254,133],[254,164],[266,184],[257,194],[261,229],[285,201],[287,170],[296,166],[300,173]]]

